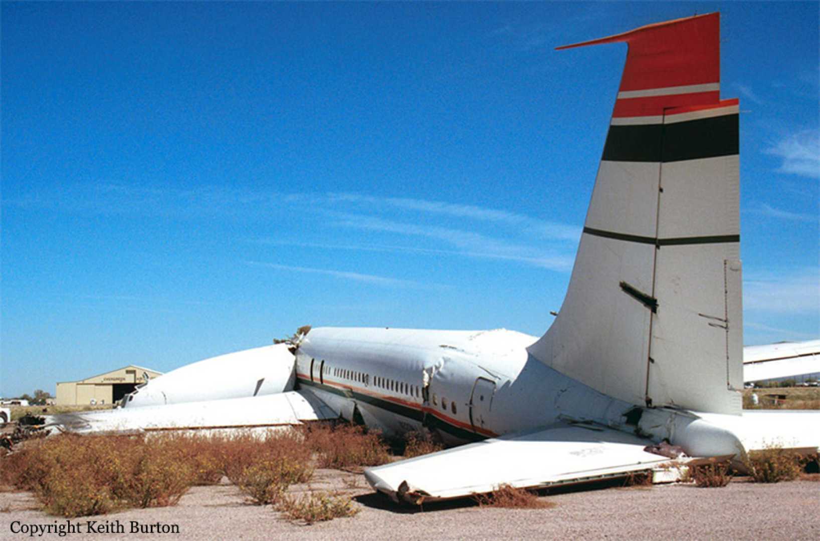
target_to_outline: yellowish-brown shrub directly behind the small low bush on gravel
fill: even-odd
[[[312,467],[307,461],[280,457],[246,467],[239,475],[238,485],[253,503],[265,505],[279,502],[291,484],[307,482],[312,474]]]

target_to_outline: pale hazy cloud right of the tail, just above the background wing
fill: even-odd
[[[749,311],[817,314],[820,310],[820,275],[816,269],[799,269],[743,280],[743,308]]]

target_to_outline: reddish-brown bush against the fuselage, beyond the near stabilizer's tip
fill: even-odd
[[[307,447],[317,453],[322,468],[379,466],[390,460],[388,446],[378,432],[354,425],[317,425],[304,431]]]

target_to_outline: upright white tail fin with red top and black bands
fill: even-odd
[[[647,406],[739,414],[738,101],[719,14],[569,45],[628,53],[561,311],[531,355]]]

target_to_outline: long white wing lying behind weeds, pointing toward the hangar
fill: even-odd
[[[258,397],[125,407],[54,416],[52,425],[78,433],[157,430],[271,429],[303,421],[338,419],[339,412],[297,391]]]

